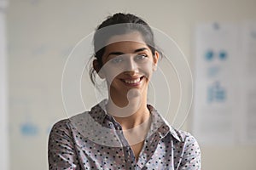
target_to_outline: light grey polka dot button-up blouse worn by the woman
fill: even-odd
[[[136,159],[104,105],[55,123],[49,134],[49,169],[201,169],[195,138],[169,126],[151,105],[152,122]]]

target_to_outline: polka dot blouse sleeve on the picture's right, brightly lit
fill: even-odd
[[[190,133],[185,139],[183,158],[179,170],[200,170],[201,169],[201,150],[199,144]]]

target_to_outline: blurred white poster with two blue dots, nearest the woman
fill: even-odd
[[[230,144],[236,138],[237,27],[210,23],[195,30],[193,131],[201,144]],[[237,72],[236,72],[237,71]],[[236,105],[235,105],[236,104]]]

